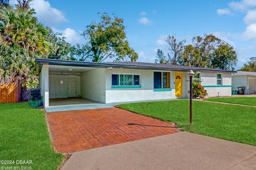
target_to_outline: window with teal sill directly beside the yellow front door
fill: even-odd
[[[170,72],[154,72],[154,89],[170,88]]]

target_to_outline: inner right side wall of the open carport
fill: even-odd
[[[81,73],[82,97],[105,103],[105,80],[105,69],[97,68]]]

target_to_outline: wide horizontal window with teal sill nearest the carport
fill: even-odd
[[[140,86],[140,75],[112,74],[112,86]]]

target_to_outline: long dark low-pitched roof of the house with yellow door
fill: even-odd
[[[172,64],[159,64],[159,63],[142,63],[142,62],[105,62],[105,63],[94,63],[94,62],[82,62],[82,61],[66,61],[66,60],[55,60],[46,58],[36,58],[36,71],[39,73],[42,69],[43,64],[50,65],[66,65],[66,66],[85,66],[85,67],[101,67],[101,68],[123,68],[123,69],[143,69],[143,70],[172,70],[172,71],[205,71],[205,72],[227,72],[236,73],[236,71],[229,70],[218,70],[208,69],[199,67],[189,67]]]

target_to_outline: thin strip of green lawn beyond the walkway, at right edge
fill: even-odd
[[[215,97],[204,100],[256,106],[256,97]]]

